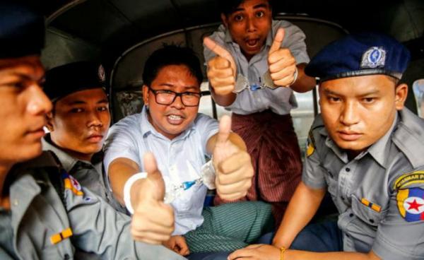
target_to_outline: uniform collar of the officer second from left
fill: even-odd
[[[61,162],[61,165],[64,167],[66,172],[71,172],[72,168],[76,165],[77,162],[83,162],[88,165],[97,165],[99,162],[102,162],[102,151],[93,155],[93,163],[86,160],[78,160],[72,157],[68,153],[64,152],[64,150],[61,150],[54,145],[52,139],[50,138],[50,134],[47,134],[44,138],[42,138],[42,150],[51,150],[57,156],[57,158],[59,158],[59,161]],[[93,165],[93,167],[95,166]]]

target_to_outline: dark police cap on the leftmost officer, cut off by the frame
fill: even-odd
[[[28,1],[0,1],[0,59],[40,54],[45,20]]]

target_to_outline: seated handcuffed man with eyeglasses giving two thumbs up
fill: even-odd
[[[269,205],[204,208],[207,188],[226,199],[245,196],[253,169],[244,141],[230,133],[230,117],[218,125],[198,114],[199,59],[191,49],[170,46],[154,52],[144,68],[143,111],[114,124],[105,143],[112,191],[134,219],[142,220],[133,227],[134,238],[163,243],[182,255],[229,252],[254,242],[273,228]],[[146,152],[155,155],[162,178],[142,173]],[[155,194],[143,189],[147,182],[155,182]]]

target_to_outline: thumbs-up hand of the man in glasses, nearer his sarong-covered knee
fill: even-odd
[[[231,118],[223,116],[213,149],[216,191],[221,199],[228,201],[246,196],[247,190],[252,186],[254,174],[249,153],[231,141],[230,130]]]

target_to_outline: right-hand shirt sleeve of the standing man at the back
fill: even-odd
[[[273,22],[273,35],[276,34],[278,28],[284,28],[284,39],[281,47],[290,49],[293,57],[296,59],[296,64],[308,63],[310,57],[306,51],[305,33],[286,20]]]

